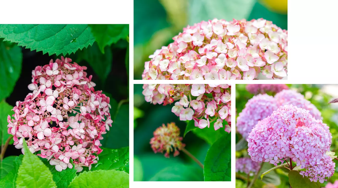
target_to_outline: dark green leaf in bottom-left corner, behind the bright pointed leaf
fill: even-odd
[[[0,179],[0,187],[15,188],[15,185],[16,185],[15,181],[16,181],[16,178],[17,178],[17,173],[18,173],[18,170],[19,170],[19,166],[22,163],[22,158],[23,158],[23,155],[15,157],[15,159],[13,160],[13,163],[12,163],[13,167],[11,168],[11,170],[6,174],[6,176],[1,177],[1,179]]]

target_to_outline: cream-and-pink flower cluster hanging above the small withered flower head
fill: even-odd
[[[152,104],[172,104],[180,120],[194,120],[201,129],[214,125],[217,130],[227,122],[231,131],[231,86],[227,84],[144,84],[143,95]]]

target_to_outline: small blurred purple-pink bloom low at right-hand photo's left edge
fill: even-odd
[[[248,157],[236,159],[236,172],[244,172],[252,176],[259,170],[259,168],[260,164],[258,162],[252,161]]]

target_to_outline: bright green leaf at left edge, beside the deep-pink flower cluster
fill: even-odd
[[[10,106],[5,101],[0,102],[0,145],[5,144],[8,137],[11,136],[7,133],[8,129],[7,116],[8,115],[12,116],[14,114],[14,111],[12,109],[13,106]]]

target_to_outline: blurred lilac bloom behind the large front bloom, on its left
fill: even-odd
[[[237,117],[236,131],[247,139],[251,129],[254,128],[259,121],[271,115],[278,107],[276,99],[267,94],[259,94],[252,97]]]

